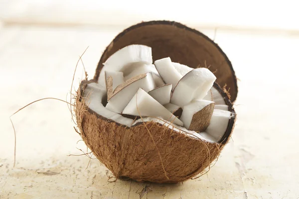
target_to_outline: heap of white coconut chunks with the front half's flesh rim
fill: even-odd
[[[211,142],[219,141],[227,129],[231,112],[228,111],[222,95],[212,87],[216,79],[213,73],[206,68],[192,69],[172,63],[170,58],[157,60],[154,65],[151,63],[150,47],[130,45],[117,51],[104,63],[98,84],[90,83],[84,90],[83,97],[89,109],[128,127],[155,121],[168,123],[169,128],[191,137]],[[145,75],[145,72],[150,73]],[[136,80],[137,76],[143,75],[145,76]],[[112,78],[113,96],[104,107],[108,90],[105,83],[109,77]],[[164,85],[164,82],[169,84]],[[171,89],[173,93],[169,103]],[[202,103],[199,108],[193,107],[192,103],[201,99],[204,99],[202,101],[206,101],[206,104],[215,102],[210,124],[203,132],[187,130],[192,122],[192,114],[199,112],[205,104]],[[180,120],[172,113],[182,108]],[[143,117],[134,121],[120,113]]]

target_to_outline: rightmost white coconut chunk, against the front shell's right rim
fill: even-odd
[[[210,125],[207,127],[205,132],[213,136],[217,141],[219,141],[228,126],[228,122],[231,118],[231,112],[227,110],[214,109]]]

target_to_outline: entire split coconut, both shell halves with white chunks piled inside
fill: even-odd
[[[116,178],[177,183],[219,156],[237,91],[230,61],[208,37],[176,22],[143,22],[120,33],[94,78],[81,82],[76,119]]]

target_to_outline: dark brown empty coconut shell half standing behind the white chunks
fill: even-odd
[[[142,22],[121,32],[103,53],[94,79],[99,78],[103,63],[112,54],[131,44],[150,46],[153,60],[170,57],[172,62],[191,68],[211,65],[209,69],[217,77],[216,82],[221,87],[227,85],[231,101],[236,100],[237,80],[225,53],[201,32],[173,21]]]

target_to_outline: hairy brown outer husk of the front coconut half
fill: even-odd
[[[127,127],[107,119],[89,109],[82,98],[86,85],[91,82],[95,81],[82,81],[77,92],[77,124],[84,142],[116,178],[154,183],[191,179],[209,167],[231,135],[235,113],[227,96],[224,99],[230,106],[232,118],[226,137],[216,143],[176,132],[168,124],[150,121]]]

